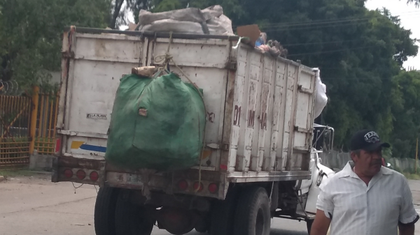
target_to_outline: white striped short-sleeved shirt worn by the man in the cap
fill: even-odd
[[[381,167],[368,185],[347,163],[321,187],[316,208],[332,218],[332,235],[396,235],[398,222],[419,220],[407,179]]]

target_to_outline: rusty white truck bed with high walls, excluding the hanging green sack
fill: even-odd
[[[97,171],[98,182],[144,186],[145,175],[106,164],[106,133],[122,75],[133,67],[158,66],[166,54],[176,63],[169,64],[172,72],[204,90],[206,148],[193,169],[153,173],[151,188],[167,188],[180,177],[195,180],[199,174],[204,183],[226,189],[229,183],[309,179],[314,70],[238,40],[79,27],[66,31],[57,120],[62,147],[53,181],[95,183],[77,178],[85,169],[87,175]],[[73,172],[70,178],[66,169]],[[219,190],[217,197],[224,194]]]

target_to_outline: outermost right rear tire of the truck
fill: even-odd
[[[269,235],[271,213],[267,191],[261,187],[246,188],[239,197],[234,235]]]

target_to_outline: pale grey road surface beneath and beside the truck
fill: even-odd
[[[420,181],[409,184],[420,212]],[[51,183],[48,175],[9,178],[0,183],[0,235],[94,235],[96,195],[92,185],[75,190],[71,183]],[[306,223],[273,219],[271,234],[307,235]],[[420,225],[416,234],[420,234]],[[169,233],[155,228],[153,235]]]

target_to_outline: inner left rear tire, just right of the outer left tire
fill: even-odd
[[[155,220],[146,207],[133,204],[120,192],[116,204],[116,235],[151,235]]]

